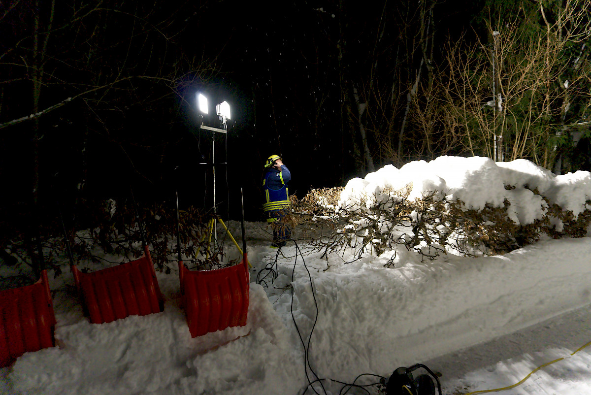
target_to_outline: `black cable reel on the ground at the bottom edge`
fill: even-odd
[[[412,372],[418,368],[423,368],[429,374],[420,374],[417,378],[413,378]],[[387,395],[435,395],[435,384],[433,379],[437,381],[437,391],[441,395],[441,384],[439,378],[428,367],[423,364],[415,364],[411,367],[405,368],[401,366],[395,370],[388,380],[386,380],[386,394]]]

